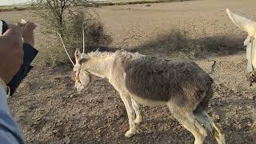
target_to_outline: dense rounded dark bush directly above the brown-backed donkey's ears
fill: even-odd
[[[85,51],[96,50],[98,47],[107,46],[111,42],[109,35],[105,34],[103,25],[96,18],[90,18],[89,14],[78,11],[70,15],[70,22],[66,25],[65,38],[69,45],[71,54],[74,54],[75,48],[82,49],[82,26],[85,31]]]

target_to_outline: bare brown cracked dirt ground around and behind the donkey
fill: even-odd
[[[134,49],[178,28],[190,38],[226,36],[241,41],[246,33],[227,17],[225,9],[255,19],[254,0],[199,0],[94,8],[113,38],[111,46]],[[29,11],[0,13],[0,18],[38,22]],[[38,24],[36,47],[46,46],[46,35]],[[49,39],[48,39],[49,40]],[[230,50],[232,51],[232,50]],[[152,51],[151,54],[159,54]],[[161,55],[161,54],[159,54]],[[256,143],[251,133],[255,118],[256,88],[246,82],[245,50],[209,54],[197,60],[208,72],[216,61],[214,98],[209,114],[222,126],[226,143]],[[74,74],[66,66],[55,69],[35,66],[17,93],[9,98],[11,114],[22,127],[27,143],[193,143],[194,137],[166,107],[142,106],[142,123],[137,134],[125,138],[126,109],[106,79],[94,78],[83,94],[74,90]],[[205,143],[217,143],[209,134]]]

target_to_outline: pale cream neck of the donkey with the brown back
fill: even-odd
[[[90,58],[82,62],[82,70],[87,70],[101,78],[108,78],[114,61],[114,53],[93,52],[88,55]]]

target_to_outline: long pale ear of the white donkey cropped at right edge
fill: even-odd
[[[245,30],[250,35],[250,37],[254,37],[256,32],[256,22],[251,21],[248,18],[244,18],[238,14],[234,14],[229,9],[226,9],[226,13],[229,15],[231,21],[234,22],[236,26],[242,30]]]

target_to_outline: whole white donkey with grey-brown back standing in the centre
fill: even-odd
[[[218,143],[225,143],[223,130],[206,113],[213,97],[213,79],[194,62],[172,61],[125,50],[97,50],[88,54],[76,50],[74,55],[78,92],[89,84],[90,74],[108,78],[119,92],[130,124],[125,134],[127,138],[135,134],[135,124],[142,122],[139,111],[139,104],[142,104],[168,106],[174,118],[194,135],[195,144],[203,143],[207,130],[214,134]]]

